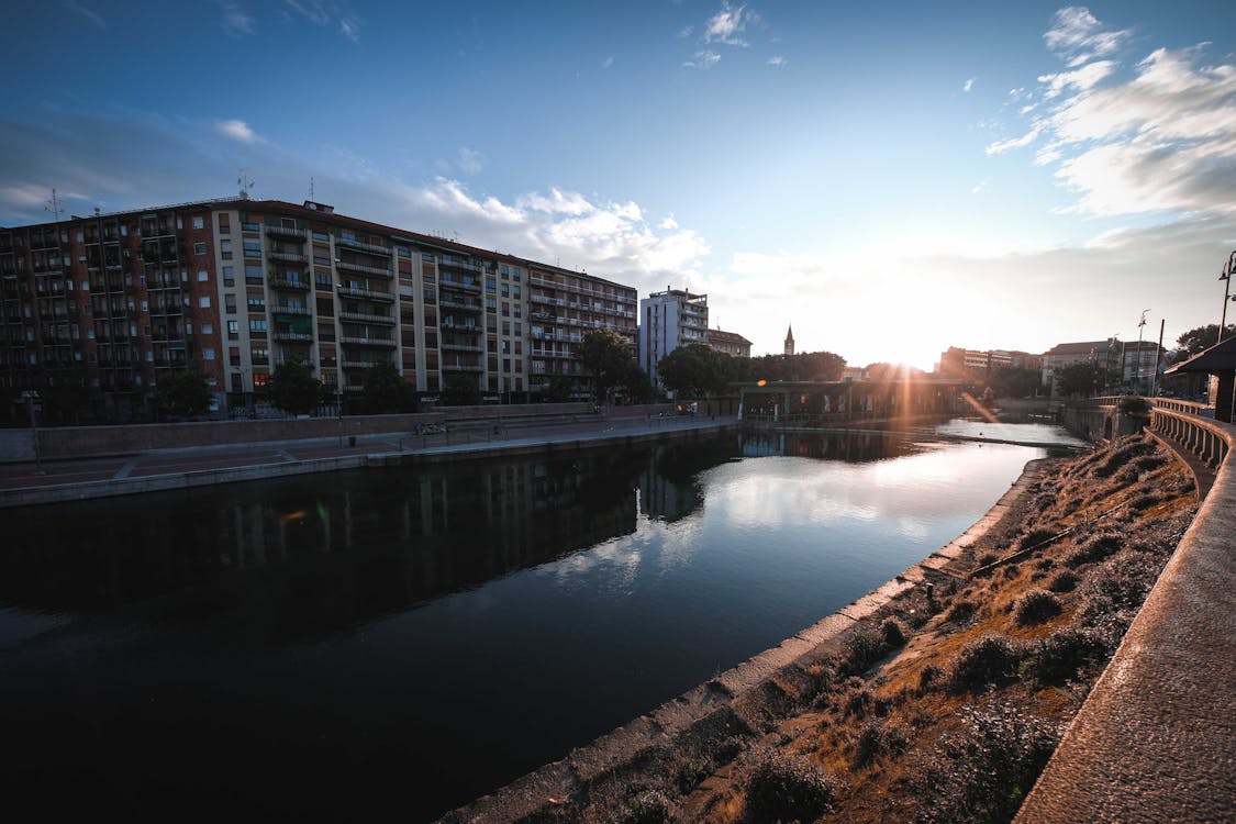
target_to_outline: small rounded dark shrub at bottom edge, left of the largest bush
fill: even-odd
[[[828,810],[839,789],[810,759],[774,750],[747,782],[747,813],[759,822],[811,820]]]

